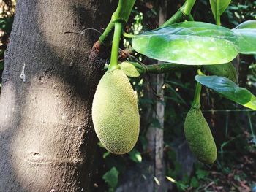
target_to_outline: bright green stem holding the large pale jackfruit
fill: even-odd
[[[111,50],[111,58],[110,58],[110,66],[109,66],[110,70],[116,69],[116,66],[118,66],[118,50],[119,50],[121,32],[122,32],[122,23],[116,22],[114,36],[113,36],[112,50]]]

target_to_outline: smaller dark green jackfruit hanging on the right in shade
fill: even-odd
[[[217,158],[217,147],[200,108],[192,107],[189,110],[184,132],[189,148],[196,158],[205,164],[212,164]]]

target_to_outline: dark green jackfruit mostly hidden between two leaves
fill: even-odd
[[[205,65],[203,68],[210,74],[226,77],[233,82],[237,81],[236,68],[231,62],[227,64]]]

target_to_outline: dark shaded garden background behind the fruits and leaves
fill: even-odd
[[[170,18],[183,3],[138,0],[125,31],[140,34],[157,28],[163,18]],[[15,0],[1,0],[0,74],[14,14]],[[214,23],[208,1],[197,0],[192,15],[195,20]],[[238,23],[255,19],[256,1],[232,0],[222,15],[222,26],[234,28]],[[134,53],[130,39],[123,39],[121,49],[130,61],[157,63]],[[255,58],[256,55],[238,55],[233,65],[238,72],[238,84],[256,95]],[[95,174],[91,176],[94,191],[152,191],[154,188],[155,191],[256,192],[255,111],[203,88],[202,111],[217,143],[217,161],[201,164],[190,152],[184,139],[184,119],[194,96],[195,74],[191,69],[182,69],[130,79],[139,99],[140,138],[127,155],[110,154],[99,143]]]

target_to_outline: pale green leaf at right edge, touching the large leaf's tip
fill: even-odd
[[[239,53],[256,54],[256,28],[244,28],[232,30],[237,36]]]

